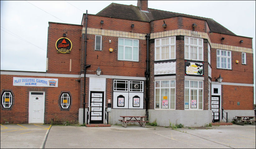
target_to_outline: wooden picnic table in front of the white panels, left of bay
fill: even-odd
[[[145,124],[149,121],[145,121],[146,116],[120,116],[123,119],[119,119],[122,122],[123,127],[127,127],[127,123],[129,122],[138,122],[141,127],[145,127]],[[133,119],[134,118],[134,119]],[[140,118],[140,119],[136,119]]]

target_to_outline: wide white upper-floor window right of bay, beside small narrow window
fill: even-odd
[[[231,51],[217,49],[217,68],[231,69]]]

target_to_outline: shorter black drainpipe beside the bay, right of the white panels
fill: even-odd
[[[149,113],[148,113],[148,105],[149,105],[149,37],[150,35],[147,34],[146,38],[147,38],[147,68],[146,68],[146,72],[145,72],[145,77],[146,77],[146,116],[149,117]]]

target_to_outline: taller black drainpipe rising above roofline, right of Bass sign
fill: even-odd
[[[86,44],[87,44],[87,20],[88,20],[88,13],[86,10],[86,17],[85,17],[85,48],[84,48],[84,86],[83,86],[83,123],[85,123],[85,75],[86,75],[86,68],[90,67],[91,65],[86,66]],[[88,118],[87,118],[88,119]]]

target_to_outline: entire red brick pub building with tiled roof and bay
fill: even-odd
[[[1,70],[1,123],[203,126],[222,108],[231,122],[254,115],[253,75],[252,38],[148,1],[111,3],[81,25],[49,22],[46,72]]]

